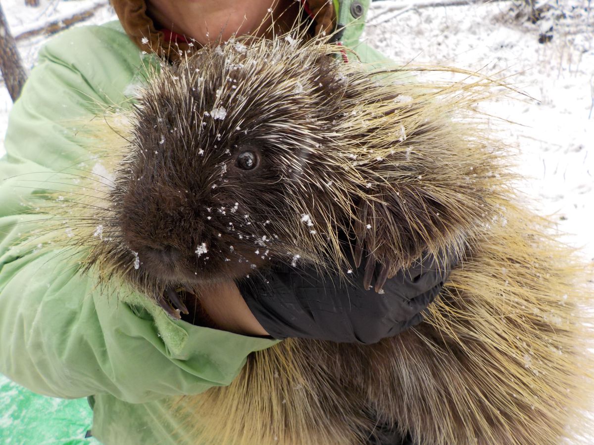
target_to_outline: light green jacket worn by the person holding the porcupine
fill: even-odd
[[[350,1],[340,3],[339,23],[352,23]],[[347,27],[345,45],[386,62],[358,44],[363,20]],[[91,396],[103,443],[185,443],[168,400],[229,384],[252,351],[276,343],[172,320],[124,283],[96,287],[71,251],[22,241],[44,227],[26,202],[52,189],[29,180],[88,157],[67,122],[90,119],[96,103],[124,103],[150,58],[119,23],[50,40],[14,104],[0,160],[0,373],[43,395]]]

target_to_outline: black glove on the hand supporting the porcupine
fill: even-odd
[[[372,344],[420,323],[455,264],[452,258],[417,261],[387,279],[383,294],[364,289],[364,267],[345,282],[338,275],[318,275],[312,267],[279,265],[237,285],[274,338]]]

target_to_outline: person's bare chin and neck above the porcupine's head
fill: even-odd
[[[299,2],[147,0],[147,14],[157,27],[195,39],[201,45],[213,45],[233,34],[270,36],[288,31],[299,14]]]

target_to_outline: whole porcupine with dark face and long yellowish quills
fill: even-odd
[[[79,210],[102,233],[73,228],[87,266],[179,317],[207,282],[274,262],[348,279],[339,233],[355,263],[382,265],[377,290],[423,253],[462,260],[416,328],[370,346],[287,339],[172,409],[198,443],[365,443],[378,423],[419,444],[576,437],[592,393],[583,270],[473,119],[492,82],[403,81],[415,70],[340,51],[236,39],[163,66],[102,126],[115,182]]]

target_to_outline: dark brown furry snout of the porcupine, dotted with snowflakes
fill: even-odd
[[[235,193],[220,198],[224,187],[213,188],[213,177],[201,175],[208,168],[198,164],[201,158],[194,164],[183,152],[175,158],[175,147],[166,154],[138,156],[118,200],[119,227],[140,271],[167,285],[249,274],[261,258],[247,233],[251,226],[242,227],[248,211],[237,211]]]

